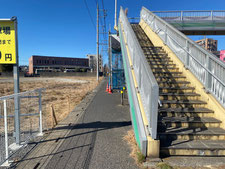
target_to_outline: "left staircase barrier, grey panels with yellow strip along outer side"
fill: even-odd
[[[129,102],[137,118],[137,129],[142,144],[146,142],[146,136],[150,135],[153,139],[157,137],[159,87],[122,8],[119,19]],[[141,149],[143,150],[143,147]]]

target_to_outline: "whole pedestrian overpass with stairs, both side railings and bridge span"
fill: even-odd
[[[173,19],[156,13],[143,7],[140,22],[131,24],[120,9],[118,30],[137,144],[149,157],[225,156],[225,65],[185,35],[223,34],[225,27],[209,29],[197,22],[189,27],[185,13]],[[217,23],[216,18],[209,22]]]

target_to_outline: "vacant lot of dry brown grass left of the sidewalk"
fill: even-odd
[[[21,78],[20,92],[46,88],[43,94],[43,116],[52,126],[52,106],[57,121],[64,119],[76,105],[97,86],[95,77]],[[12,79],[0,79],[0,96],[13,93]]]

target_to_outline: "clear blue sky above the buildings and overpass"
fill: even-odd
[[[107,11],[106,29],[113,31],[114,0],[0,0],[0,18],[18,18],[19,64],[32,55],[86,57],[96,53],[96,2]],[[85,5],[86,2],[86,5]],[[225,0],[118,0],[118,9],[128,8],[129,17],[139,17],[142,6],[151,11],[224,10]],[[102,10],[101,10],[102,11]],[[119,10],[118,10],[119,13]],[[102,15],[102,12],[101,12]],[[104,23],[101,17],[101,23]],[[225,49],[225,36],[219,40]],[[203,36],[194,37],[194,40]],[[101,48],[100,48],[101,52]],[[104,63],[107,61],[104,54]]]

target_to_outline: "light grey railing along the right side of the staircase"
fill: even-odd
[[[143,19],[197,79],[225,107],[225,64],[146,8]]]

